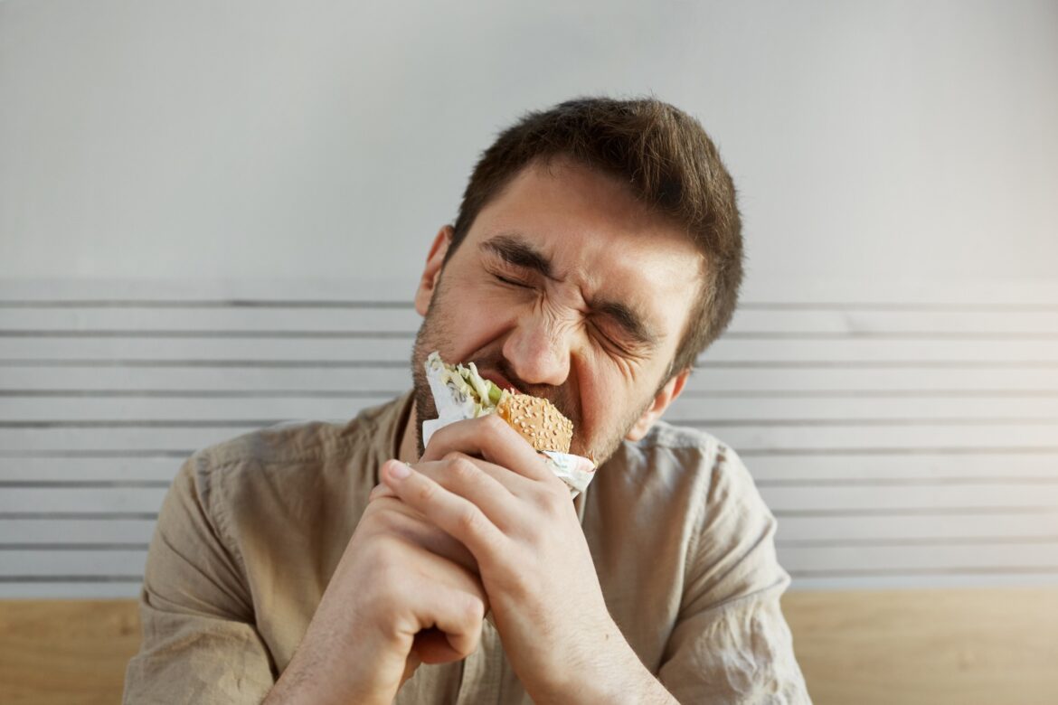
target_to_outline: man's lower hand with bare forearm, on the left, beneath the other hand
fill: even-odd
[[[420,663],[470,655],[487,610],[462,546],[400,500],[373,500],[266,703],[388,705]]]

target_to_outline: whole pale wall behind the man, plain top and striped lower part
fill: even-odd
[[[182,458],[405,389],[477,153],[597,92],[741,188],[668,419],[795,587],[1058,583],[1058,3],[546,4],[0,0],[0,598],[134,595]]]

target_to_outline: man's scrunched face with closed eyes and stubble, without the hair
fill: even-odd
[[[601,463],[642,435],[672,398],[658,390],[701,281],[690,239],[616,179],[565,161],[515,177],[442,270],[449,235],[416,295],[419,453],[437,416],[423,373],[434,350],[549,400],[573,422],[571,452]]]

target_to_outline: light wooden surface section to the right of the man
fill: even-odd
[[[783,600],[817,705],[1052,704],[1058,590],[796,592]]]

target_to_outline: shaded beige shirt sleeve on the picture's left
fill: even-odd
[[[166,495],[147,555],[143,643],[125,674],[130,703],[259,703],[274,684],[241,558],[214,512],[201,453]]]

